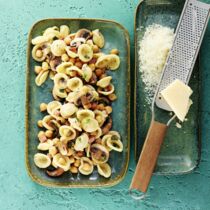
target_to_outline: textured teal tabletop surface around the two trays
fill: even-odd
[[[206,1],[210,3],[210,0]],[[210,209],[210,25],[201,49],[202,154],[199,167],[184,176],[154,176],[149,196],[135,201],[128,187],[135,168],[133,139],[126,178],[102,189],[52,189],[33,183],[24,163],[24,101],[27,34],[47,17],[113,19],[130,32],[138,0],[0,0],[0,209]],[[133,70],[133,65],[131,71]]]

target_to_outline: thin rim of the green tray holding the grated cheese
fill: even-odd
[[[136,117],[136,87],[137,87],[137,82],[136,82],[136,78],[137,78],[137,56],[138,56],[138,52],[137,52],[137,33],[136,33],[136,29],[137,29],[137,13],[139,11],[139,8],[141,7],[141,5],[145,2],[146,0],[140,0],[140,2],[138,3],[138,5],[136,6],[136,9],[135,9],[135,14],[134,14],[134,60],[135,60],[135,67],[134,67],[134,106],[133,106],[133,109],[134,109],[134,159],[135,159],[135,162],[137,163],[139,157],[137,157],[137,117]],[[197,57],[197,60],[196,62],[198,62],[198,68],[200,69],[200,52],[198,54],[198,57]],[[200,73],[199,73],[200,74]],[[199,75],[199,78],[200,78],[200,75]],[[200,85],[200,82],[199,82],[199,92],[201,92],[201,85]],[[199,101],[200,101],[200,94],[199,94]],[[198,110],[200,111],[200,103],[198,104]],[[192,171],[194,171],[199,163],[200,163],[200,159],[201,159],[201,129],[200,129],[200,114],[199,114],[199,119],[198,120],[198,127],[197,127],[197,132],[198,132],[198,159],[196,160],[196,164],[190,168],[189,170],[187,171],[183,171],[183,172],[176,172],[176,173],[172,173],[172,172],[161,172],[161,171],[157,171],[157,172],[153,172],[153,174],[155,175],[183,175],[183,174],[189,174],[191,173]],[[141,154],[141,151],[140,151],[140,154]]]

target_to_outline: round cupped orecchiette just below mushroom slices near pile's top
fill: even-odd
[[[83,62],[88,62],[93,58],[93,50],[88,44],[81,44],[78,47],[79,59]]]

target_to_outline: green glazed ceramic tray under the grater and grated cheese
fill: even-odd
[[[138,159],[143,146],[150,120],[150,106],[146,102],[144,93],[145,85],[139,72],[139,42],[145,28],[153,23],[176,28],[184,0],[145,0],[136,10],[135,21],[135,57],[136,57],[136,101],[135,101],[135,139],[136,159]],[[192,171],[200,158],[200,128],[199,128],[199,103],[200,103],[200,78],[199,59],[193,70],[190,87],[193,89],[193,105],[187,115],[188,121],[181,129],[170,125],[167,136],[156,164],[157,174],[183,174]]]

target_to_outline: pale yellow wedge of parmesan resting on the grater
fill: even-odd
[[[182,122],[192,104],[192,101],[190,100],[192,92],[193,91],[189,86],[178,79],[174,80],[174,82],[161,91],[164,100]]]

